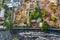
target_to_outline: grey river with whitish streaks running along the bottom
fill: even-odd
[[[56,31],[49,31],[44,33],[40,30],[14,30],[16,33],[9,31],[0,31],[0,40],[12,40],[17,37],[19,40],[60,40],[60,33]]]

